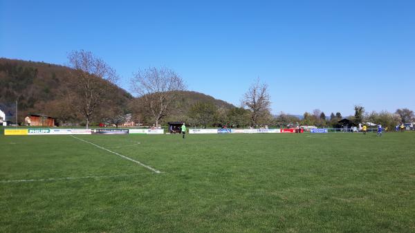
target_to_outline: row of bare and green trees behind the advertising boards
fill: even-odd
[[[74,109],[84,116],[86,127],[95,111],[95,107],[104,102],[104,86],[95,82],[97,78],[106,80],[110,84],[116,84],[118,75],[102,59],[94,57],[91,52],[84,50],[74,51],[68,55],[71,68],[75,71],[75,85],[77,90],[77,104]],[[156,127],[165,120],[182,120],[192,127],[263,127],[273,125],[278,127],[292,127],[294,125],[314,125],[316,127],[338,127],[339,120],[343,116],[340,112],[331,113],[329,118],[326,113],[315,109],[312,113],[305,112],[302,119],[293,115],[280,113],[273,116],[270,113],[270,94],[268,85],[259,78],[248,88],[241,98],[241,106],[224,109],[211,102],[196,102],[190,106],[187,112],[181,112],[182,106],[177,101],[180,91],[185,91],[187,86],[183,79],[173,70],[166,67],[149,67],[139,70],[130,80],[130,91],[138,97],[133,102],[131,109],[135,109],[134,115],[140,116],[142,122],[154,123]],[[107,103],[114,100],[107,100]],[[117,104],[112,103],[107,114],[107,122],[120,124],[125,119],[126,109],[117,109]],[[131,105],[130,105],[131,106]],[[130,111],[131,111],[130,109]],[[409,109],[397,109],[395,113],[380,111],[365,112],[365,108],[356,105],[355,115],[349,116],[355,125],[362,122],[382,124],[384,127],[394,127],[399,123],[415,120],[414,112]],[[164,120],[164,121],[163,121]]]

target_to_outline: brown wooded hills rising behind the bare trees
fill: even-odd
[[[61,121],[82,122],[82,117],[75,115],[68,106],[68,96],[73,93],[70,87],[73,75],[73,70],[66,66],[0,58],[0,109],[8,115],[14,115],[15,102],[18,100],[19,122],[24,122],[28,113],[49,115]],[[135,98],[129,92],[104,80],[102,82],[109,86],[111,100],[116,100],[116,104],[125,112],[134,111]],[[176,111],[172,118],[185,115],[196,102],[210,102],[223,109],[233,107],[210,95],[183,91],[177,101],[180,111]],[[99,118],[97,116],[95,122],[99,122]]]

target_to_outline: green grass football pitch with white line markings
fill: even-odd
[[[76,137],[161,173],[0,136],[0,232],[415,232],[415,133]]]

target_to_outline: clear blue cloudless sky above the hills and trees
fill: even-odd
[[[3,1],[0,57],[90,50],[122,88],[167,66],[239,105],[259,77],[273,113],[415,110],[415,1]]]

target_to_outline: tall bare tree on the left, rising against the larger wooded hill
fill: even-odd
[[[112,84],[118,81],[118,75],[102,59],[85,50],[68,54],[69,66],[73,68],[72,87],[75,91],[73,107],[86,122],[86,129],[100,104],[105,102]]]

